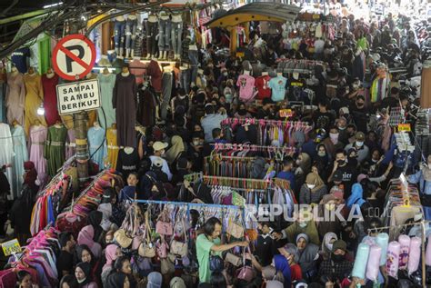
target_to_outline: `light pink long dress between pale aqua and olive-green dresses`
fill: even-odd
[[[47,129],[43,125],[30,127],[30,161],[35,164],[37,178],[41,184],[46,180],[46,159],[44,158],[44,146]]]

